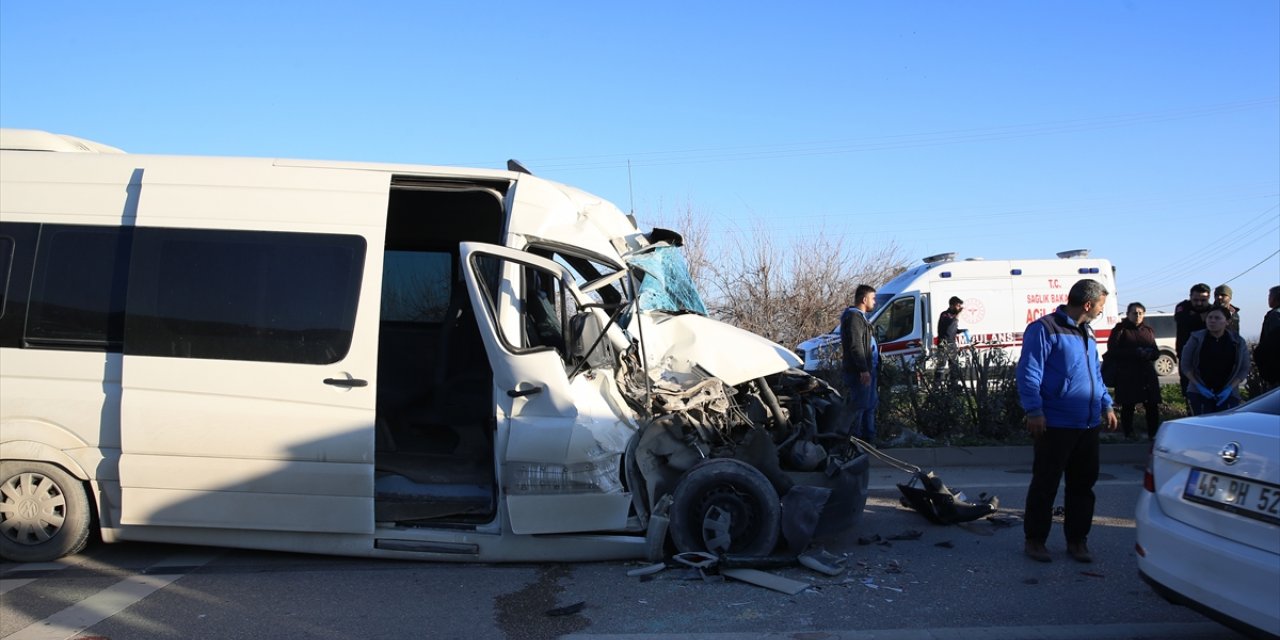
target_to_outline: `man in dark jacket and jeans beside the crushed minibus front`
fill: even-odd
[[[876,390],[876,369],[879,366],[879,349],[872,335],[868,316],[876,310],[876,288],[859,284],[854,291],[854,306],[840,316],[840,348],[844,365],[845,388],[850,420],[850,433],[876,444],[876,404],[879,393]]]

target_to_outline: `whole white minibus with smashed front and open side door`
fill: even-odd
[[[838,396],[598,197],[518,164],[0,147],[5,558],[764,556],[861,516]]]

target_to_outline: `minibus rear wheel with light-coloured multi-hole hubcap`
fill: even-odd
[[[84,485],[45,462],[0,462],[0,557],[47,562],[88,543]]]

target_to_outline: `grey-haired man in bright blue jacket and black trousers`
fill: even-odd
[[[1066,553],[1078,562],[1093,562],[1087,540],[1098,480],[1098,428],[1105,424],[1115,431],[1116,416],[1102,384],[1089,321],[1102,315],[1107,294],[1102,283],[1080,280],[1066,294],[1066,305],[1027,325],[1023,334],[1018,397],[1027,411],[1027,430],[1036,440],[1023,532],[1027,556],[1039,562],[1052,562],[1044,540],[1064,475]]]

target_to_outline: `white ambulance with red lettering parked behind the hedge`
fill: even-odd
[[[1091,278],[1111,292],[1101,317],[1092,323],[1098,351],[1106,351],[1120,321],[1115,268],[1088,250],[1064,251],[1057,259],[983,260],[938,253],[922,260],[876,294],[872,326],[884,357],[915,357],[938,343],[934,328],[952,296],[964,301],[960,344],[1004,349],[1011,361],[1021,353],[1023,330],[1066,303],[1076,280]],[[806,371],[840,369],[840,325],[796,347]]]

